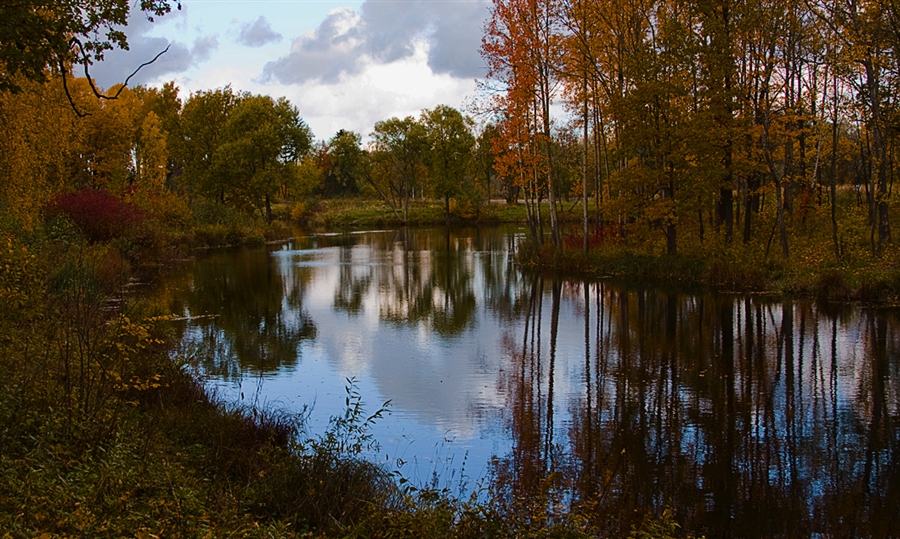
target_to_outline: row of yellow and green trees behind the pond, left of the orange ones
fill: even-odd
[[[412,199],[440,198],[449,218],[451,201],[477,207],[491,191],[490,140],[446,105],[378,122],[365,145],[347,130],[317,142],[285,98],[230,86],[182,98],[168,83],[103,99],[86,78],[60,78],[19,77],[16,92],[0,93],[0,207],[20,227],[81,190],[204,201],[266,221],[275,202],[368,195],[402,222]]]

